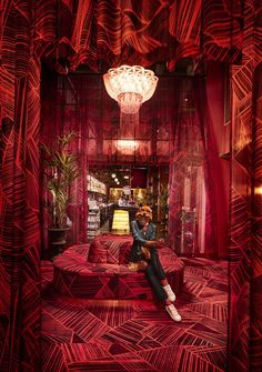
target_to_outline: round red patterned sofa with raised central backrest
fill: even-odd
[[[132,237],[103,234],[91,244],[72,245],[53,260],[60,293],[87,299],[153,299],[144,272],[128,268]],[[174,292],[183,285],[183,262],[168,247],[159,257]]]

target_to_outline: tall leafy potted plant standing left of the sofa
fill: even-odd
[[[56,143],[42,143],[46,185],[49,191],[48,211],[50,214],[49,243],[52,250],[61,251],[66,244],[68,208],[71,199],[70,188],[80,175],[77,154],[68,145],[78,134],[70,131],[58,135]]]

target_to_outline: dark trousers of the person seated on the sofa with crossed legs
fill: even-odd
[[[165,273],[159,260],[157,249],[153,248],[150,249],[150,251],[151,251],[151,259],[147,261],[149,265],[145,268],[144,271],[157,298],[160,301],[165,301],[168,295],[160,283],[161,280],[165,279]]]

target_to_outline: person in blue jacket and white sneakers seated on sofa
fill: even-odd
[[[175,295],[168,283],[165,273],[159,260],[158,249],[163,247],[162,240],[155,238],[155,225],[152,221],[150,207],[141,207],[131,222],[133,245],[130,253],[130,270],[143,270],[160,301],[165,304],[169,315],[177,322],[181,315],[173,305]]]

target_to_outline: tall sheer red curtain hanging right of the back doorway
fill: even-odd
[[[221,100],[216,90],[214,102],[208,97],[208,84],[214,79],[188,77],[178,89],[173,158],[170,162],[169,240],[182,254],[226,257],[229,209],[224,198],[224,178],[221,167],[215,127],[223,127],[223,105],[212,121],[210,108]],[[223,72],[220,76],[223,86]],[[229,187],[229,185],[228,185]],[[223,227],[223,229],[222,229]],[[220,239],[219,239],[220,237]],[[223,242],[220,244],[220,240]]]

